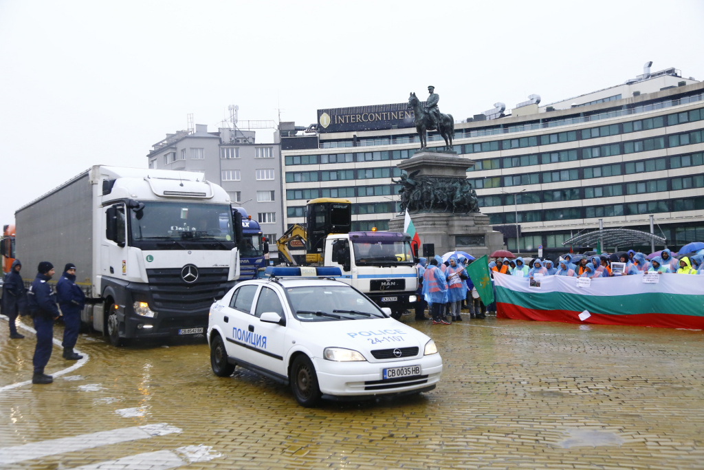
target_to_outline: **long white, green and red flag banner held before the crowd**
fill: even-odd
[[[704,329],[704,276],[530,280],[495,274],[494,285],[498,318]]]

